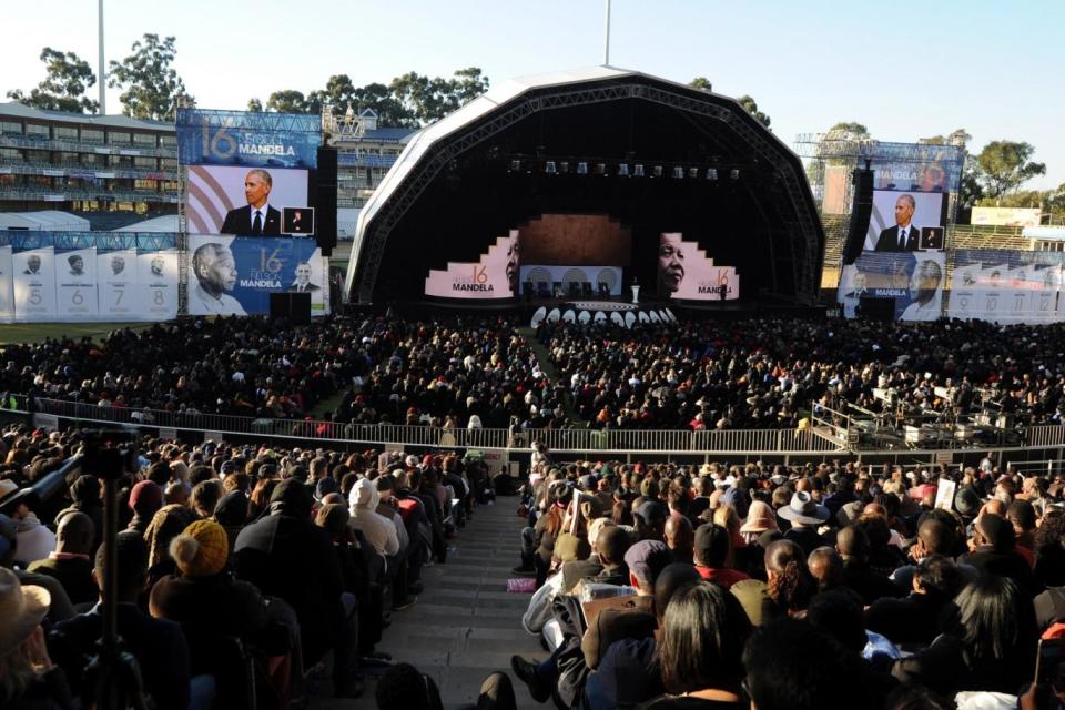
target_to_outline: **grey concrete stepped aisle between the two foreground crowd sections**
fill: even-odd
[[[423,571],[425,591],[414,607],[393,613],[377,647],[436,680],[445,710],[475,702],[481,681],[496,670],[510,676],[519,708],[546,707],[536,703],[510,672],[513,653],[546,657],[539,641],[521,629],[530,595],[507,591],[507,579],[515,577],[510,568],[520,561],[524,521],[515,511],[517,500],[504,497],[475,510],[450,540],[447,562]],[[372,710],[374,688],[375,680],[367,678],[363,698],[325,700],[315,707]]]

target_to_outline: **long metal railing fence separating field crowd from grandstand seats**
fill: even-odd
[[[185,440],[274,440],[291,446],[317,443],[355,450],[358,446],[406,450],[440,448],[496,450],[509,459],[528,456],[532,442],[541,442],[558,456],[596,454],[622,460],[681,460],[731,463],[770,460],[784,464],[833,459],[874,465],[972,464],[988,453],[1003,465],[1057,470],[1065,454],[1065,426],[1041,425],[1025,429],[1017,445],[925,449],[921,447],[868,449],[848,444],[845,429],[738,429],[690,432],[681,429],[445,429],[393,424],[343,424],[314,419],[255,418],[196,412],[98,406],[62,399],[3,394],[2,410],[30,416],[37,425],[140,427],[165,438]],[[298,443],[297,443],[298,442]]]

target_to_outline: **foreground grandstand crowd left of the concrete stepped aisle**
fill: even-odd
[[[108,504],[63,462],[98,445],[22,425],[0,436],[0,707],[92,707]],[[159,709],[357,697],[364,666],[390,661],[375,646],[422,569],[493,497],[484,464],[455,455],[145,439],[131,468],[115,618],[143,707]]]

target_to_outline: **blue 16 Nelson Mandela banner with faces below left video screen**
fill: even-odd
[[[271,293],[311,294],[311,314],[326,312],[327,272],[308,237],[193,234],[189,237],[189,315],[270,313]]]

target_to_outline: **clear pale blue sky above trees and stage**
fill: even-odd
[[[508,77],[602,62],[604,0],[105,0],[109,59],[145,32],[178,38],[175,68],[204,108],[243,109],[275,90],[480,67]],[[44,45],[95,65],[95,0],[6,0],[0,93],[43,79]],[[965,128],[1036,148],[1065,183],[1065,2],[615,0],[610,63],[749,93],[791,144],[859,121],[913,141]],[[109,91],[109,112],[119,110]],[[2,99],[0,99],[2,100]]]

